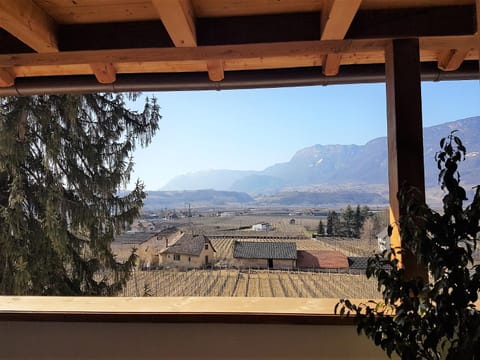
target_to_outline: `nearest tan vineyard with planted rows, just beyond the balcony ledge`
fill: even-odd
[[[121,296],[378,298],[364,275],[269,270],[135,271]]]

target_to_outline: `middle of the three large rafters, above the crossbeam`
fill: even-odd
[[[176,47],[197,46],[190,0],[152,0],[152,3]]]

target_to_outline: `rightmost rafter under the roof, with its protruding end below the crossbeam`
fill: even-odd
[[[321,18],[321,40],[341,40],[347,34],[350,24],[357,13],[362,0],[328,0]],[[327,54],[322,64],[326,76],[337,75],[342,56]]]

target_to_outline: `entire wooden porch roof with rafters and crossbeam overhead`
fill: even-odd
[[[472,78],[479,2],[0,0],[0,95],[384,81],[399,38]]]

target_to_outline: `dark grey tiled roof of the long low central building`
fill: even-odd
[[[233,257],[242,259],[292,259],[297,258],[297,244],[293,242],[237,241]]]

